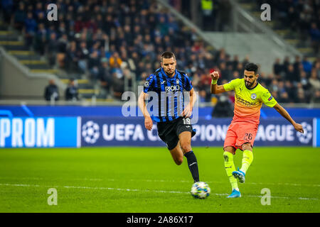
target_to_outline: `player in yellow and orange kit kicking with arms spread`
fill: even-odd
[[[237,198],[241,197],[237,179],[240,183],[245,182],[245,173],[253,160],[252,147],[259,126],[262,103],[276,109],[279,114],[292,123],[296,131],[304,133],[304,130],[302,125],[296,123],[288,112],[274,100],[270,92],[257,82],[259,75],[257,74],[257,65],[254,63],[245,65],[244,78],[233,79],[228,84],[217,84],[218,72],[212,72],[210,75],[212,77],[211,94],[235,91],[234,116],[225,136],[223,157],[225,171],[233,188],[228,198]],[[235,171],[233,155],[238,148],[243,151],[242,166],[240,170],[238,168],[238,171]]]

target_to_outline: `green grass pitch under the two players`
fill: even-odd
[[[225,198],[222,148],[193,150],[207,199],[193,199],[186,158],[177,166],[165,147],[1,149],[0,212],[320,212],[319,148],[254,148],[238,199]],[[270,205],[261,204],[263,188]]]

